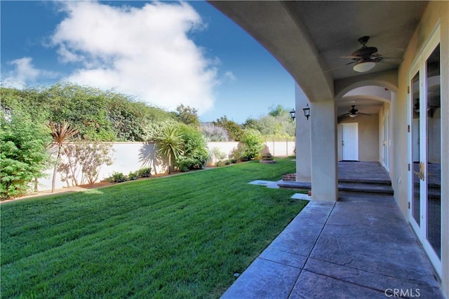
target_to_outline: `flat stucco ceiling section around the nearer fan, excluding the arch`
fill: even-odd
[[[361,48],[358,38],[370,36],[385,57],[372,72],[394,69],[401,62],[408,41],[424,12],[425,1],[292,1],[288,3],[295,18],[307,27],[327,70],[334,79],[357,76],[350,56]]]

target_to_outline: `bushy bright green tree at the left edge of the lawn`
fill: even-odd
[[[46,127],[22,111],[1,111],[0,118],[0,199],[26,193],[32,179],[48,167]]]

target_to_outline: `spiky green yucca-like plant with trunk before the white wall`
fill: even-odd
[[[177,158],[182,155],[182,135],[174,126],[168,126],[162,131],[162,136],[157,139],[157,152],[168,158],[168,174],[170,174],[171,156]]]

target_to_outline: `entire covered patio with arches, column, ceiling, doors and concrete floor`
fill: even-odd
[[[295,183],[312,201],[225,297],[449,298],[449,1],[210,4],[289,72],[295,111],[310,109],[295,118]],[[376,173],[342,160],[380,163],[394,195],[347,193]]]

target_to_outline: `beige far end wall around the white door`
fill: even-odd
[[[356,118],[342,118],[338,122],[358,123],[358,160],[363,162],[378,162],[379,158],[379,114],[370,116],[359,115]],[[342,130],[338,126],[337,151],[338,160],[342,160]]]

